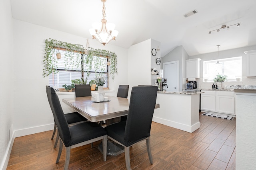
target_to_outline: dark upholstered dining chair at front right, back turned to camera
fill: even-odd
[[[148,157],[153,164],[150,149],[150,129],[156,105],[157,86],[132,87],[126,121],[105,127],[108,138],[124,146],[126,169],[130,170],[130,146],[146,140]]]

